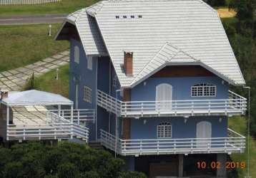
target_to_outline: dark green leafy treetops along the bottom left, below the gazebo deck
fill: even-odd
[[[70,142],[54,146],[27,142],[11,149],[0,147],[0,177],[6,178],[116,178],[120,175],[144,178],[142,173],[126,174],[123,167],[124,161],[107,151]]]

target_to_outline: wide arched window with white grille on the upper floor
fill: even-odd
[[[214,97],[216,96],[216,85],[200,83],[191,87],[192,97]]]

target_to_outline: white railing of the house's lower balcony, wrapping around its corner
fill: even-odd
[[[122,140],[101,130],[101,142],[119,155],[166,155],[244,152],[245,137],[228,129],[228,137]],[[116,145],[117,143],[117,145]],[[117,147],[116,147],[117,146]]]

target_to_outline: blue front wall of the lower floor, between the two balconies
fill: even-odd
[[[220,122],[220,117],[222,118]],[[169,122],[172,125],[172,138],[192,138],[197,135],[197,123],[208,121],[212,124],[212,137],[227,137],[226,116],[154,117],[132,119],[131,139],[157,139],[157,125]],[[144,124],[144,120],[147,120]]]

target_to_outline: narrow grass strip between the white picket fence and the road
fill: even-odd
[[[61,0],[60,2],[37,5],[0,6],[0,16],[33,14],[69,14],[92,5],[99,0]]]

